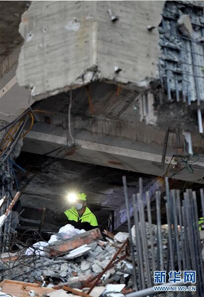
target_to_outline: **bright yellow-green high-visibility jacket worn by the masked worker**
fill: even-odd
[[[98,222],[96,220],[95,215],[90,211],[90,209],[87,206],[81,217],[74,206],[70,209],[65,210],[64,214],[70,221],[89,223],[91,226],[98,226]]]

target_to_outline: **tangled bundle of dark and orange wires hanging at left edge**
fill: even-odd
[[[20,117],[14,119],[4,127],[0,128],[0,132],[5,130],[0,140],[0,166],[8,159],[13,152],[17,142],[24,138],[28,132],[32,129],[34,124],[34,112],[42,112],[42,110],[32,110],[31,108],[26,110]],[[25,125],[31,119],[30,127],[27,131],[24,131]]]

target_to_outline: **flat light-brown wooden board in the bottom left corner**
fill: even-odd
[[[42,295],[47,295],[48,293],[53,292],[52,288],[40,287],[38,284],[12,281],[12,280],[3,280],[0,283],[1,291],[5,294],[9,294],[15,297],[24,297],[28,296],[28,293],[33,290],[38,294],[38,297]]]

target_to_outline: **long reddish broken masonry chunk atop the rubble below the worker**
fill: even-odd
[[[50,254],[53,256],[65,254],[70,250],[82,246],[83,244],[92,243],[101,239],[101,232],[98,228],[81,233],[67,240],[60,240],[50,247]]]

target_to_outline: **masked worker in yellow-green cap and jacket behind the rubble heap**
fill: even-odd
[[[73,194],[74,196],[74,194]],[[65,210],[64,213],[55,217],[57,222],[66,222],[75,228],[91,230],[98,226],[95,215],[90,211],[87,205],[87,196],[85,193],[75,194],[74,206]]]

